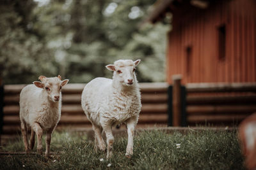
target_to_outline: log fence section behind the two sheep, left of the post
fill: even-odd
[[[81,94],[85,84],[68,84],[62,92],[61,119],[57,129],[92,127],[81,108]],[[0,120],[2,138],[20,132],[19,94],[26,85],[4,85],[3,114]],[[167,83],[140,83],[141,114],[138,127],[166,126],[168,120]],[[2,95],[3,96],[3,95]]]

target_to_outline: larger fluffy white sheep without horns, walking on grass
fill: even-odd
[[[92,122],[95,132],[95,150],[105,150],[102,130],[106,134],[108,153],[112,155],[114,137],[112,126],[125,123],[127,125],[128,144],[125,155],[133,154],[134,128],[138,122],[141,110],[141,96],[135,67],[140,60],[116,60],[107,69],[114,71],[113,80],[95,78],[84,87],[82,108],[86,117]]]

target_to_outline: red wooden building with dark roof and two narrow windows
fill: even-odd
[[[256,81],[255,0],[163,0],[149,20],[172,17],[166,52],[167,81]]]

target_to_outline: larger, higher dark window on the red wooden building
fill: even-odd
[[[226,26],[221,25],[218,27],[218,37],[219,37],[219,60],[225,60],[226,55]]]

